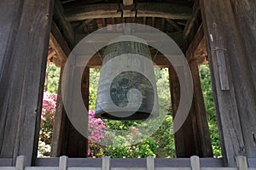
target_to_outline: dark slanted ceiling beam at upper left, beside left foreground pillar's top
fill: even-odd
[[[65,19],[64,8],[61,5],[60,0],[55,0],[55,9],[54,9],[54,20],[55,24],[59,27],[62,32],[62,36],[65,38],[69,48],[73,49],[74,47],[74,31],[70,22]]]

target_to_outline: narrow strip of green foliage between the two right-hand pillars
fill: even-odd
[[[212,83],[208,64],[200,65],[201,87],[207,109],[207,121],[212,139],[213,156],[221,156],[221,147],[218,136],[217,118],[215,116],[214,101],[212,97]]]

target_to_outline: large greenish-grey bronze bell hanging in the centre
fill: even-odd
[[[128,121],[158,116],[154,65],[141,38],[126,35],[109,42],[100,75],[96,117]]]

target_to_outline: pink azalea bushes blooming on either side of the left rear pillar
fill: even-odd
[[[39,138],[38,156],[50,155],[53,124],[55,118],[57,94],[44,92],[43,107],[41,114],[41,130]],[[102,119],[96,118],[95,111],[89,110],[89,149],[88,156],[98,156],[101,152],[100,143],[104,139],[106,126]]]

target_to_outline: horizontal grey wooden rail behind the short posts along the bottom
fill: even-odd
[[[219,158],[200,158],[201,167],[224,167]],[[38,158],[37,167],[58,167],[59,158]],[[155,167],[189,167],[189,158],[155,158]],[[111,167],[146,167],[146,158],[111,158]],[[102,167],[101,158],[68,158],[68,167]]]

